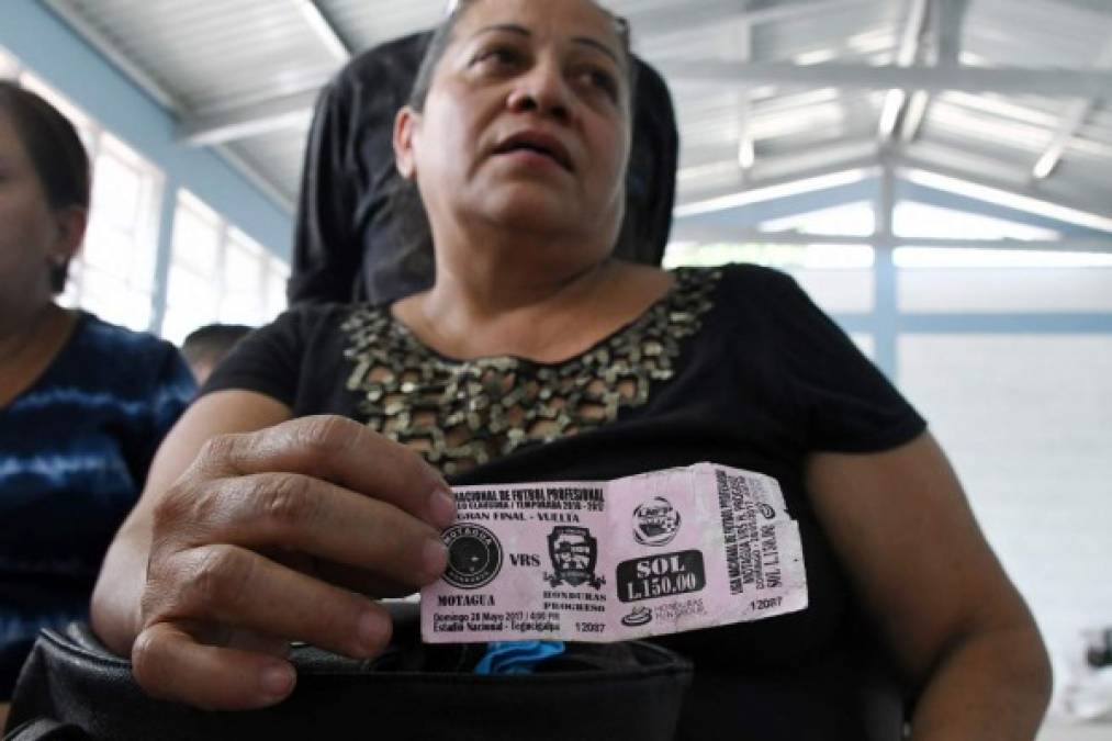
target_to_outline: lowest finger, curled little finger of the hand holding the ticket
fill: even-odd
[[[198,643],[172,623],[136,639],[131,670],[149,694],[208,710],[250,710],[280,702],[297,682],[288,661]]]

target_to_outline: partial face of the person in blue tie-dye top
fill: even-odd
[[[50,265],[76,248],[64,221],[50,207],[11,117],[0,111],[0,303],[6,309],[33,309],[50,300]]]

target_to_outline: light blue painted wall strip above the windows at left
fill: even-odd
[[[166,174],[161,255],[169,254],[167,213],[187,188],[288,258],[290,216],[216,154],[178,145],[173,118],[38,0],[0,0],[0,46]]]

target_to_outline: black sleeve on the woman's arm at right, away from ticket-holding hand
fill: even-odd
[[[920,435],[923,417],[795,280],[762,270],[791,396],[802,405],[807,447],[870,453]]]

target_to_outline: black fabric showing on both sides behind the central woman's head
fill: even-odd
[[[394,115],[431,36],[414,33],[364,52],[321,91],[301,175],[290,305],[383,304],[433,285],[428,218],[394,166],[391,144]],[[633,60],[633,149],[615,255],[659,265],[675,201],[678,134],[664,80]]]

